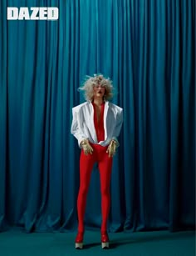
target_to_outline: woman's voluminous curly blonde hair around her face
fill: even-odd
[[[100,86],[105,87],[104,99],[109,100],[113,97],[113,86],[110,78],[104,78],[102,74],[94,74],[94,77],[86,76],[86,81],[79,88],[79,90],[84,91],[84,96],[86,100],[93,100],[94,92],[93,87],[100,84]]]

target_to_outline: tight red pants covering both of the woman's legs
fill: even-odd
[[[107,229],[107,219],[110,212],[110,177],[112,158],[106,153],[107,146],[102,147],[99,144],[92,144],[93,153],[87,156],[81,150],[80,158],[80,189],[77,198],[78,231],[84,231],[84,216],[86,208],[86,196],[91,179],[91,171],[94,163],[98,163],[100,171],[100,193],[101,193],[101,231]]]

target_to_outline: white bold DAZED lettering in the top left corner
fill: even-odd
[[[57,20],[58,8],[7,8],[7,20]]]

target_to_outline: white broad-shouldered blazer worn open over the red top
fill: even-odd
[[[94,125],[94,108],[91,101],[87,101],[86,103],[72,108],[72,114],[71,133],[78,140],[79,147],[81,148],[81,141],[85,138],[91,143],[97,144],[96,128]],[[115,139],[119,146],[117,137],[120,134],[122,123],[123,108],[106,101],[104,109],[105,140],[100,141],[98,144],[107,146],[111,139]]]

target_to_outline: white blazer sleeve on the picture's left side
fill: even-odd
[[[72,123],[71,123],[71,134],[73,134],[74,137],[76,137],[78,141],[78,146],[81,148],[81,141],[85,139],[86,137],[84,134],[81,133],[81,129],[79,127],[78,122],[78,112],[76,111],[76,108],[72,108]]]

